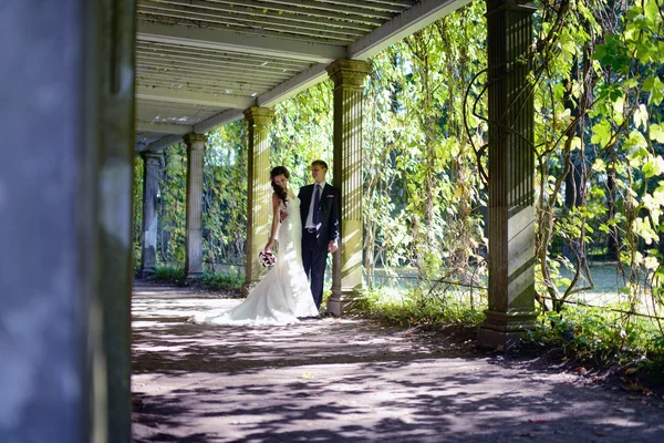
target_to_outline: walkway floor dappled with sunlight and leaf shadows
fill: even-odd
[[[239,301],[134,288],[135,441],[664,441],[662,400],[364,320],[185,322]]]

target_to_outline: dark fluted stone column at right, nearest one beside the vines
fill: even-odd
[[[509,349],[535,326],[533,101],[527,75],[535,8],[487,0],[489,309],[481,346]]]

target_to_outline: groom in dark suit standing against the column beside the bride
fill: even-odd
[[[315,307],[323,301],[323,280],[328,253],[339,247],[339,214],[341,193],[325,183],[328,164],[322,159],[311,163],[314,184],[303,186],[298,194],[302,217],[302,265],[311,279]]]

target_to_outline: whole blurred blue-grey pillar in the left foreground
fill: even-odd
[[[0,7],[0,442],[131,441],[134,8]]]

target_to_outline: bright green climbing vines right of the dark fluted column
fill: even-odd
[[[662,205],[649,185],[664,172],[653,144],[653,116],[662,115],[653,115],[662,101],[661,10],[654,0],[544,3],[537,22],[538,281],[551,301],[541,305],[560,311],[594,288],[593,247],[614,251],[634,308],[657,264],[644,245],[658,241]],[[552,250],[556,244],[563,247]]]

